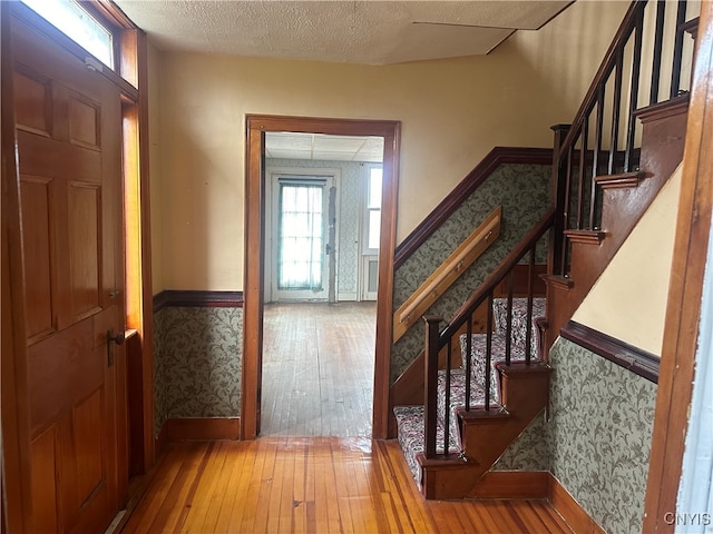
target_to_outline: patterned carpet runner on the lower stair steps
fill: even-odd
[[[535,320],[545,315],[545,299],[533,299],[533,329],[530,340],[530,358],[533,363],[538,363],[539,330]],[[496,298],[492,301],[494,333],[491,336],[491,365],[490,365],[490,411],[494,413],[505,412],[500,405],[501,376],[497,364],[505,362],[507,345],[507,299]],[[485,407],[485,363],[487,334],[471,335],[471,386],[470,386],[470,408],[482,409]],[[510,362],[525,362],[527,338],[527,299],[514,298],[511,312],[510,330]],[[460,349],[462,362],[467,359],[467,335],[460,336]],[[465,364],[463,364],[465,367]],[[449,446],[448,454],[453,459],[465,459],[463,443],[458,423],[458,413],[466,407],[466,369],[463,367],[453,368],[450,373],[450,398],[448,406]],[[437,454],[446,454],[443,437],[446,433],[446,382],[447,372],[441,369],[438,373],[438,411],[437,411]],[[423,406],[395,406],[393,413],[397,419],[398,438],[403,456],[413,475],[413,478],[421,487],[421,463],[426,452],[424,435],[424,407]],[[420,461],[419,461],[420,458]]]

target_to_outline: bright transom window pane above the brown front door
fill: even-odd
[[[22,0],[99,61],[114,68],[111,32],[71,0]]]

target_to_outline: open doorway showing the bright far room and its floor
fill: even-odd
[[[381,137],[265,135],[261,436],[371,437],[382,160]]]

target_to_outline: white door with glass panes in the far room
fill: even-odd
[[[272,300],[326,300],[330,289],[331,177],[277,176],[273,182]]]

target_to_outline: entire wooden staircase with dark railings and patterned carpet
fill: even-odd
[[[440,317],[423,317],[423,404],[393,412],[427,498],[478,495],[486,473],[546,411],[547,350],[683,158],[681,72],[694,59],[684,39],[695,38],[697,19],[685,1],[675,17],[668,11],[665,2],[631,4],[575,120],[553,128],[553,209],[442,329]],[[545,236],[540,290],[535,260]],[[522,266],[525,285],[515,290]],[[484,313],[485,333],[473,333]]]

